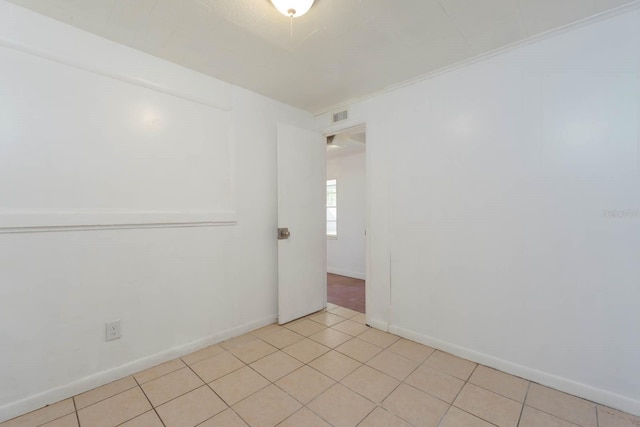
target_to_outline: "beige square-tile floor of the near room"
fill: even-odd
[[[640,418],[327,311],[269,325],[0,427],[640,427]]]

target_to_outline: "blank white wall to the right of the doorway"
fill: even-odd
[[[370,324],[640,414],[638,40],[636,8],[350,106]]]

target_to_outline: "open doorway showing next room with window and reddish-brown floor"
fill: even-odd
[[[327,302],[366,311],[366,128],[327,136]]]

